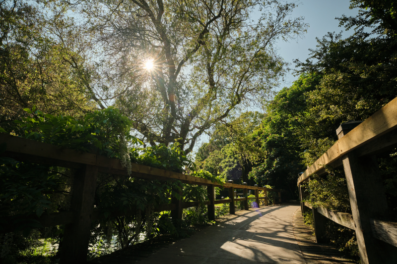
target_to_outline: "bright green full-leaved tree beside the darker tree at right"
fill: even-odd
[[[302,155],[317,129],[308,114],[307,99],[320,75],[301,75],[267,103],[267,115],[252,137],[260,141],[264,156],[254,164],[249,177],[261,185],[282,188],[285,197],[296,198],[296,178],[303,171]]]

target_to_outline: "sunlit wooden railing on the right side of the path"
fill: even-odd
[[[299,177],[302,213],[313,212],[315,236],[324,242],[325,219],[355,230],[363,264],[397,263],[397,223],[387,221],[388,205],[376,155],[397,147],[397,98],[364,122],[347,122],[336,130],[338,141]],[[312,208],[302,183],[326,175],[325,166],[345,172],[352,214]]]

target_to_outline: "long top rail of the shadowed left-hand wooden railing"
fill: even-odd
[[[6,151],[1,156],[11,157],[18,160],[29,160],[36,163],[59,165],[62,167],[78,168],[81,165],[98,166],[99,172],[111,173],[118,175],[128,175],[125,167],[122,166],[119,159],[108,158],[92,153],[85,153],[77,150],[58,148],[55,145],[42,143],[30,139],[24,139],[12,135],[0,133],[0,143],[6,143]],[[158,180],[180,180],[183,183],[197,185],[214,185],[217,187],[251,190],[269,190],[264,187],[247,186],[242,184],[224,183],[223,185],[212,182],[208,179],[194,177],[179,172],[173,172],[165,169],[159,169],[131,163],[132,176],[136,178],[158,179]]]

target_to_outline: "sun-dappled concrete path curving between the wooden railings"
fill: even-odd
[[[292,231],[299,205],[238,211],[139,264],[305,264]]]

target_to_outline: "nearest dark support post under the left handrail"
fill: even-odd
[[[97,177],[98,167],[94,165],[85,165],[74,175],[70,205],[73,223],[65,225],[60,264],[87,262]]]

